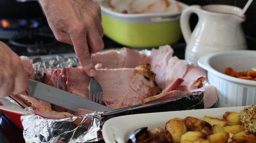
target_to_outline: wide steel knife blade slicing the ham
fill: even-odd
[[[84,87],[86,88],[86,87]],[[90,101],[64,90],[46,85],[39,81],[29,79],[27,92],[30,96],[46,102],[77,111],[79,108],[91,111],[109,111],[111,108]]]

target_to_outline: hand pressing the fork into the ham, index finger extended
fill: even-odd
[[[86,74],[96,74],[90,61],[92,53],[101,51],[103,28],[100,6],[92,0],[39,0],[54,36],[60,42],[74,46]]]

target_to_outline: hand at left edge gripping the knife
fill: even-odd
[[[0,96],[18,95],[28,87],[28,70],[6,44],[0,42]]]

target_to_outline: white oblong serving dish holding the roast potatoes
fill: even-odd
[[[157,127],[165,128],[165,124],[172,118],[185,118],[188,116],[203,120],[204,115],[221,118],[226,111],[240,112],[243,107],[211,108],[185,111],[170,111],[159,113],[146,113],[125,115],[107,120],[103,124],[102,135],[106,143],[125,143],[128,135],[135,129],[147,126],[149,130]]]

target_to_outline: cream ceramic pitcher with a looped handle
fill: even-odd
[[[191,34],[189,18],[198,15],[198,23]],[[242,9],[231,5],[191,5],[181,14],[181,31],[187,44],[185,60],[197,64],[206,54],[229,50],[245,50],[247,44],[241,23]]]

